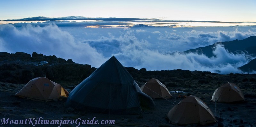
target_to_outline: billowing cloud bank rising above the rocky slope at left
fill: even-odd
[[[32,54],[35,51],[94,66],[106,60],[89,44],[76,42],[71,34],[53,24],[44,27],[28,24],[21,28],[10,24],[0,25],[0,40],[1,52]]]

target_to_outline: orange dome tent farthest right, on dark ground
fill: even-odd
[[[217,88],[212,94],[211,101],[215,102],[239,102],[245,101],[241,89],[234,83],[226,83]]]

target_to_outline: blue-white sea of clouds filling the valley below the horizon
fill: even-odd
[[[243,73],[237,68],[252,57],[229,53],[222,45],[214,48],[215,57],[211,58],[182,52],[256,36],[256,26],[86,28],[40,24],[0,25],[0,52],[37,52],[92,67],[99,67],[115,56],[124,66],[136,69],[229,74]]]

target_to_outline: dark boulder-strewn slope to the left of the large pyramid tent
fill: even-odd
[[[24,84],[36,77],[55,81],[76,82],[88,77],[96,68],[88,64],[76,64],[71,59],[44,56],[33,52],[0,53],[0,82]]]

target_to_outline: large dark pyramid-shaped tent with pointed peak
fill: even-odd
[[[140,113],[155,108],[124,66],[112,56],[70,93],[66,107],[109,113]]]

